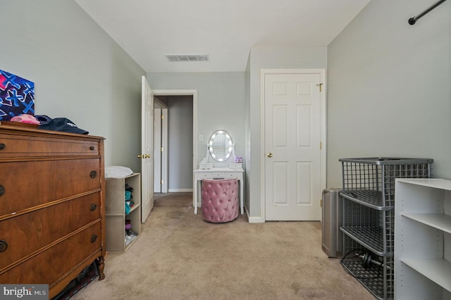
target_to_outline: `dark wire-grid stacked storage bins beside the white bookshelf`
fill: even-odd
[[[395,289],[395,179],[431,177],[431,158],[340,158],[341,264],[377,299]]]

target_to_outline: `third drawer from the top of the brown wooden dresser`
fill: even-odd
[[[0,270],[98,220],[100,209],[100,192],[96,192],[1,221],[0,240],[7,248],[0,251]]]

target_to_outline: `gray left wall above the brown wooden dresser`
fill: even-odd
[[[140,172],[144,70],[75,1],[1,1],[0,8],[0,68],[35,82],[35,113],[106,137],[106,165]]]

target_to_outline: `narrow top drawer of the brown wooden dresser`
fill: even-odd
[[[0,158],[92,155],[99,155],[97,141],[0,133]]]

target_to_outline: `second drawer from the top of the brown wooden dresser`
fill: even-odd
[[[1,163],[2,215],[101,187],[100,159]]]

